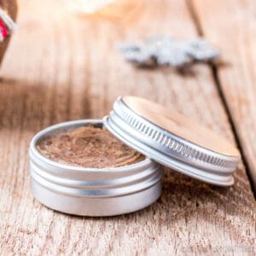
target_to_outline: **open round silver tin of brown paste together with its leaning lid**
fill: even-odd
[[[104,119],[39,131],[29,154],[35,198],[60,212],[87,216],[118,215],[152,204],[160,196],[160,164],[230,186],[240,160],[237,148],[223,137],[135,96],[119,97]]]

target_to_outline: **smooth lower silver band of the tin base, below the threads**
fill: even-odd
[[[44,188],[31,180],[32,195],[44,204],[58,212],[80,216],[107,217],[136,212],[148,207],[161,194],[161,183],[131,195],[122,195],[109,198],[86,198],[61,195]]]

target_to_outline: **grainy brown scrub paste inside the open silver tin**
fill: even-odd
[[[128,166],[145,159],[109,131],[92,125],[53,133],[40,140],[37,148],[50,160],[88,168]]]

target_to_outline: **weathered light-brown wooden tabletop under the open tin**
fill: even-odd
[[[0,252],[84,255],[256,253],[256,2],[134,1],[115,17],[79,17],[61,0],[20,0],[19,30],[1,68]],[[138,69],[116,42],[202,35],[225,65]],[[163,194],[141,212],[79,218],[32,198],[27,148],[61,121],[102,118],[120,95],[143,96],[227,137],[241,150],[230,188],[166,168]]]

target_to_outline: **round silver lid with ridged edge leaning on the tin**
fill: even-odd
[[[140,97],[119,97],[104,125],[123,143],[164,166],[207,183],[234,183],[239,151],[173,110]]]

